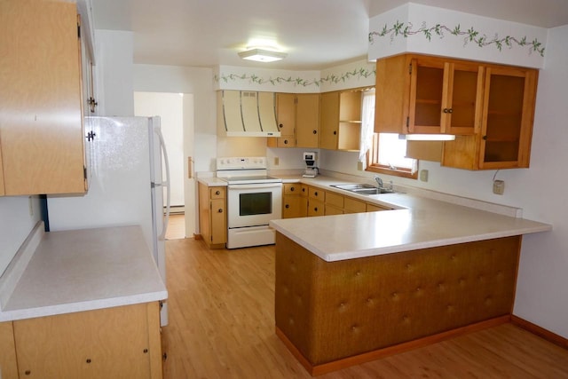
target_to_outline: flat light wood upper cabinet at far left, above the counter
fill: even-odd
[[[0,36],[0,194],[84,193],[75,3],[4,0]]]

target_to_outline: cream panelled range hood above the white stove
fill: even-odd
[[[273,92],[217,92],[217,133],[227,137],[280,137]]]

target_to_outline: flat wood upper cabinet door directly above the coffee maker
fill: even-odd
[[[296,146],[318,148],[319,93],[296,95]]]

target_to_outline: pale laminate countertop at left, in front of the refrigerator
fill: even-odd
[[[0,321],[168,297],[139,226],[50,232],[38,238],[39,245],[5,296]]]

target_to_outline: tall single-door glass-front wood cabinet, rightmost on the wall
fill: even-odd
[[[538,71],[485,68],[481,130],[444,142],[442,165],[467,170],[529,167]]]

